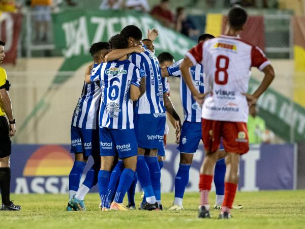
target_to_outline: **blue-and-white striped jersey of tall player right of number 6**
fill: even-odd
[[[167,85],[161,77],[159,61],[154,53],[146,49],[141,53],[132,53],[129,60],[146,76],[146,92],[135,103],[135,113],[165,112],[163,93],[167,92]]]

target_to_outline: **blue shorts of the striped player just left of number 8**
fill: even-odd
[[[177,149],[183,153],[195,153],[202,138],[201,123],[185,121],[182,124],[180,142]],[[220,150],[223,150],[221,140]]]

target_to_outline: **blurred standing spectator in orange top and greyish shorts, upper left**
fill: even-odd
[[[35,41],[47,42],[51,21],[52,0],[32,0],[31,6],[35,11]]]

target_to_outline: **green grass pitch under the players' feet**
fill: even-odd
[[[305,190],[237,192],[235,204],[243,209],[233,210],[230,220],[218,220],[219,211],[211,210],[211,219],[198,219],[198,193],[186,193],[184,211],[159,212],[98,211],[98,194],[88,194],[87,212],[66,212],[67,195],[12,195],[20,212],[0,211],[0,228],[305,228]],[[140,203],[140,193],[136,195]],[[162,194],[162,204],[169,207],[173,193]],[[215,193],[210,193],[214,204]]]

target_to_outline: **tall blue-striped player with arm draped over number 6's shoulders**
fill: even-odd
[[[121,35],[129,40],[130,47],[142,44],[142,32],[135,25],[123,28]],[[151,39],[154,40],[156,35],[151,36]],[[133,53],[130,49],[118,49],[108,53],[105,59],[115,60],[126,54],[130,54],[129,60],[146,75],[146,92],[135,102],[134,122],[138,140],[137,174],[146,197],[141,209],[156,210],[161,205],[161,173],[157,152],[164,144],[166,110],[176,120],[177,132],[180,131],[181,122],[167,96],[166,81],[161,77],[159,62],[154,53],[146,47],[141,53]]]

